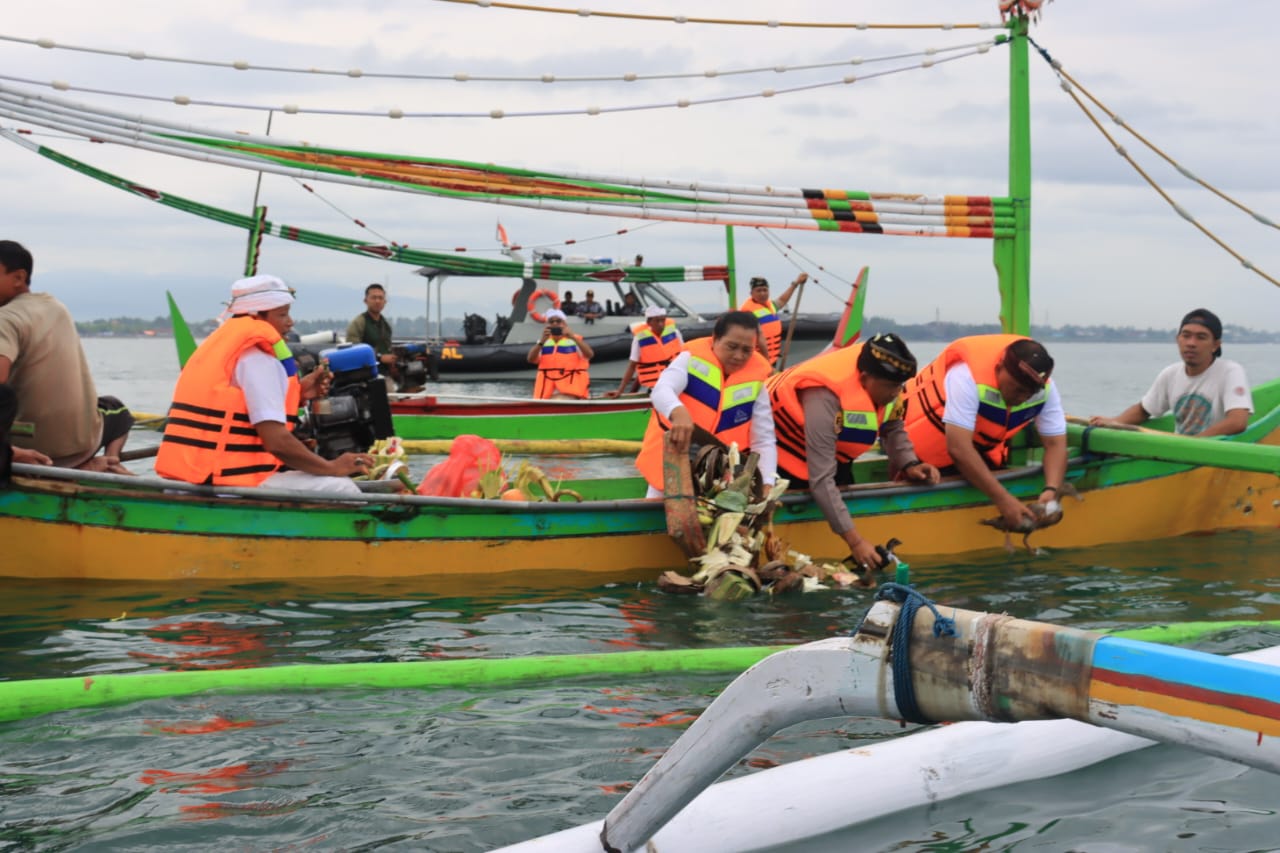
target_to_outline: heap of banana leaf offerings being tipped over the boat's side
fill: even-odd
[[[756,453],[748,453],[742,460],[737,444],[708,444],[699,451],[690,479],[705,546],[700,553],[690,555],[696,567],[692,575],[666,571],[658,578],[658,587],[666,592],[739,601],[759,593],[777,596],[824,589],[827,583],[864,585],[863,578],[849,565],[817,565],[808,555],[792,551],[790,543],[773,532],[773,510],[788,483],[780,479],[765,491],[758,464]],[[672,538],[689,552],[694,537],[681,532],[677,538],[673,530]]]

